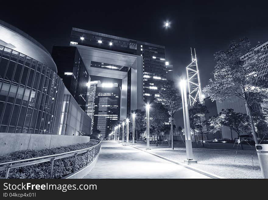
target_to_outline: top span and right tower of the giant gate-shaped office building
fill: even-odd
[[[153,103],[166,83],[164,46],[78,28],[72,28],[70,46],[78,49],[89,75],[122,79],[121,120]]]

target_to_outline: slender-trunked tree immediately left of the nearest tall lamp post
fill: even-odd
[[[182,96],[180,90],[176,87],[174,81],[168,81],[167,84],[162,85],[158,95],[159,97],[157,97],[154,101],[156,103],[168,106],[169,109],[168,114],[170,115],[169,123],[171,124],[171,148],[174,149],[173,146],[173,125],[175,124],[174,114],[179,110],[181,106]]]

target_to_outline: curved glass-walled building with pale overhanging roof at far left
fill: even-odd
[[[64,94],[65,86],[49,52],[0,20],[0,132],[59,134]],[[76,118],[68,114],[67,125],[77,122]],[[79,127],[79,131],[90,133],[90,128]],[[67,130],[64,134],[73,133]]]

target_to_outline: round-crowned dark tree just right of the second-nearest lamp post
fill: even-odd
[[[150,126],[156,133],[156,146],[158,146],[158,134],[160,130],[165,126],[165,122],[168,122],[168,111],[162,104],[156,104],[150,109]]]

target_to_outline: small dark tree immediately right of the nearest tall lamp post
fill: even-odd
[[[189,118],[191,119],[192,123],[190,122],[190,126],[192,124],[192,129],[195,130],[199,128],[199,131],[202,135],[202,140],[204,141],[204,134],[203,134],[203,127],[205,126],[205,115],[209,113],[206,106],[201,104],[200,102],[196,102],[191,109],[189,109]],[[194,132],[195,134],[195,132]],[[197,145],[197,143],[196,143]],[[204,146],[204,143],[202,142]]]

